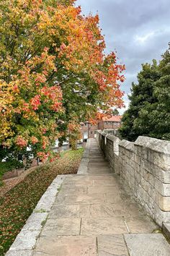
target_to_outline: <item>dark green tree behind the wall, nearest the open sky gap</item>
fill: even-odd
[[[138,73],[138,83],[132,84],[131,95],[129,95],[130,106],[122,117],[120,136],[126,140],[135,141],[138,136],[148,136],[155,127],[148,119],[148,111],[157,103],[154,95],[154,83],[160,78],[160,71],[156,60],[153,64],[143,64]]]

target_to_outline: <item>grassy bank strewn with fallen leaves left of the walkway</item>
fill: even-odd
[[[67,151],[53,163],[36,168],[0,198],[0,255],[9,249],[40,197],[58,174],[76,174],[83,149]]]

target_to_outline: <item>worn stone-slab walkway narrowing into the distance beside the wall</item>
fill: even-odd
[[[66,176],[33,255],[168,256],[157,229],[89,140],[79,175]]]

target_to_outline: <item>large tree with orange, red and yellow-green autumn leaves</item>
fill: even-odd
[[[73,2],[0,3],[1,149],[53,158],[71,123],[122,106],[125,67],[104,55],[99,17]]]

